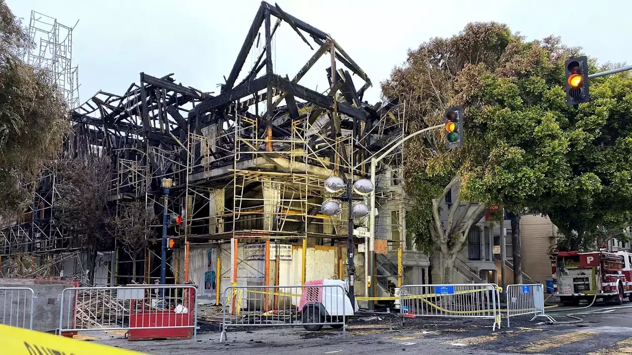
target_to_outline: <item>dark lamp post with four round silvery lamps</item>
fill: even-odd
[[[339,193],[340,191],[345,190],[342,196],[332,196],[332,200],[325,201],[320,207],[321,212],[324,215],[334,216],[341,214],[342,208],[340,204],[336,200],[342,200],[348,203],[349,206],[349,232],[347,234],[347,257],[349,263],[349,290],[348,296],[349,301],[351,301],[351,306],[355,307],[355,295],[354,295],[354,284],[355,284],[355,265],[353,263],[353,219],[365,217],[369,214],[370,208],[362,202],[353,203],[354,201],[362,201],[364,198],[362,197],[354,197],[353,193],[355,192],[357,195],[363,196],[368,195],[374,189],[374,185],[371,181],[367,179],[358,179],[356,181],[352,181],[351,179],[347,179],[346,186],[342,178],[338,176],[330,176],[325,180],[325,190],[329,193]],[[365,262],[367,262],[365,260]]]

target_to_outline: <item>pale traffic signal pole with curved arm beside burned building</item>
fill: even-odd
[[[374,186],[374,190],[371,193],[371,202],[368,204],[370,208],[370,212],[369,212],[370,232],[369,232],[369,242],[368,242],[368,248],[367,248],[368,249],[368,263],[365,262],[365,265],[368,264],[367,280],[370,281],[369,287],[368,287],[368,297],[373,297],[374,287],[375,287],[375,275],[374,275],[374,272],[375,272],[375,191],[377,190],[377,185],[375,184],[375,171],[377,170],[377,163],[380,160],[384,159],[384,157],[389,155],[393,150],[395,150],[395,148],[402,145],[405,141],[410,140],[410,138],[413,138],[416,135],[420,135],[421,133],[432,131],[432,129],[444,128],[445,126],[446,125],[443,123],[437,124],[436,126],[427,127],[427,128],[421,129],[420,131],[416,131],[415,133],[411,133],[410,135],[405,136],[401,140],[396,141],[391,146],[391,148],[388,148],[386,152],[379,155],[379,157],[374,157],[371,159],[371,183]],[[368,301],[368,309],[373,310],[374,307],[375,307],[374,301]]]

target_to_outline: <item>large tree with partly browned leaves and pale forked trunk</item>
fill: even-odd
[[[586,148],[599,150],[599,144],[585,136],[586,123],[580,123],[580,117],[603,113],[602,100],[612,97],[599,93],[610,80],[606,78],[591,88],[596,100],[579,109],[566,105],[564,61],[578,54],[555,37],[528,42],[506,25],[470,23],[450,39],[435,38],[410,51],[406,63],[382,83],[384,100],[406,101],[410,132],[442,123],[447,107],[465,108],[463,147],[446,152],[444,131],[437,130],[411,140],[405,150],[404,188],[415,201],[407,231],[423,250],[442,255],[444,282],[451,282],[468,232],[489,205],[517,214],[548,214],[556,222],[562,219],[554,212],[571,206],[584,211],[589,206],[580,199],[594,199],[603,191],[596,184],[599,175],[589,170],[608,171],[620,179],[621,187],[630,181],[627,163],[614,160],[576,171]],[[614,80],[628,79],[621,75]],[[629,92],[623,84],[614,86]],[[628,99],[612,100],[612,106],[619,106],[613,111],[624,119],[627,109],[622,106]],[[625,138],[618,139],[623,148]],[[619,162],[632,156],[624,157],[623,149],[615,151]],[[442,211],[441,202],[454,186],[459,187],[458,196],[450,210]],[[632,189],[617,198],[628,191]]]

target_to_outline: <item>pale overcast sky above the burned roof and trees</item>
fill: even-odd
[[[599,63],[632,62],[632,1],[375,1],[277,0],[287,13],[329,33],[374,83],[365,100],[379,99],[379,82],[432,37],[449,37],[470,21],[507,23],[528,39],[559,35]],[[73,60],[82,102],[98,90],[122,94],[139,73],[216,91],[228,76],[260,1],[257,0],[6,0],[28,25],[35,10],[72,26]],[[274,1],[270,3],[274,4]],[[572,9],[569,7],[572,6]],[[577,16],[581,21],[569,22]],[[273,23],[276,20],[272,18]],[[274,71],[292,78],[311,56],[287,23],[277,31]],[[259,49],[253,49],[255,56]],[[246,71],[253,59],[246,61]],[[322,59],[301,83],[325,90]]]

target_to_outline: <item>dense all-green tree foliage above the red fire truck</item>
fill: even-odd
[[[569,142],[569,186],[534,208],[559,227],[562,250],[595,248],[600,231],[619,234],[632,220],[632,76],[592,79],[590,95],[558,119]]]

